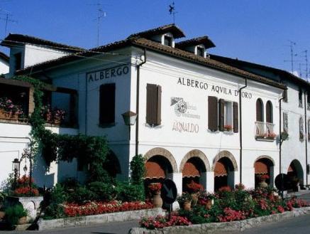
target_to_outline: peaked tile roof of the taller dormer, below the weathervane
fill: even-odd
[[[147,31],[143,31],[140,33],[133,33],[128,38],[140,37],[140,38],[150,38],[150,36],[155,36],[161,33],[172,33],[175,38],[183,38],[185,35],[181,29],[175,26],[174,23],[168,24],[165,26],[160,26],[158,28],[152,28]]]

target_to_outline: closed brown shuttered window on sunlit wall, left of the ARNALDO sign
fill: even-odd
[[[146,85],[146,123],[161,124],[162,87],[160,85]]]

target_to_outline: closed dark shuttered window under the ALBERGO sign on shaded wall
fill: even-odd
[[[99,124],[115,122],[115,84],[100,86],[99,94]]]

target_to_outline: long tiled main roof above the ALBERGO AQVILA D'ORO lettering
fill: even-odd
[[[218,62],[216,60],[210,58],[202,58],[201,56],[194,55],[194,53],[190,53],[184,50],[180,50],[178,48],[172,48],[170,46],[164,46],[155,41],[150,41],[146,38],[128,38],[123,41],[116,41],[115,43],[110,43],[106,46],[99,46],[97,48],[93,48],[92,50],[86,50],[80,53],[74,53],[72,55],[67,55],[62,58],[57,58],[55,60],[49,60],[44,63],[38,63],[31,67],[25,68],[23,70],[18,70],[16,75],[35,73],[39,70],[47,70],[57,65],[64,65],[65,63],[74,62],[76,60],[81,60],[85,57],[91,57],[97,55],[98,53],[109,53],[111,50],[116,50],[118,48],[124,48],[126,46],[136,46],[139,48],[146,48],[149,50],[153,50],[157,53],[162,53],[165,55],[170,55],[174,58],[180,58],[182,60],[186,60],[191,63],[196,63],[199,65],[204,65],[209,68],[214,68],[216,70],[221,70],[226,73],[231,73],[233,75],[238,75],[243,78],[248,78],[250,80],[255,80],[261,83],[265,83],[267,85],[272,85],[274,87],[279,87],[282,89],[286,89],[286,86],[280,83],[277,83],[273,80],[264,78],[260,75],[255,75],[253,73],[249,73],[245,70],[240,70],[238,68],[232,67],[225,63]]]

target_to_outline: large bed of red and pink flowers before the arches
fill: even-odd
[[[140,226],[143,228],[165,228],[170,225],[190,225],[201,223],[223,223],[260,216],[269,216],[284,211],[293,211],[294,208],[310,206],[306,201],[297,198],[282,200],[272,188],[258,188],[245,191],[244,186],[236,186],[229,191],[223,189],[218,193],[200,192],[199,201],[190,210],[180,209],[175,213],[172,221],[165,217],[142,218]],[[206,206],[208,201],[212,201]]]

